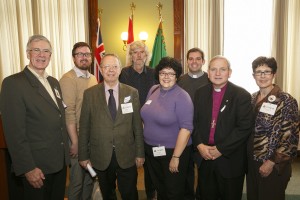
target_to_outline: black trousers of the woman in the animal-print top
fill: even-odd
[[[292,175],[291,162],[279,171],[273,167],[273,171],[267,177],[262,177],[259,173],[261,162],[248,159],[247,173],[247,199],[248,200],[284,200],[285,190]]]

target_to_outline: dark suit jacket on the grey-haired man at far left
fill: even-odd
[[[54,96],[58,81],[47,78]],[[40,168],[51,174],[69,164],[68,135],[62,98],[58,107],[40,81],[26,67],[3,80],[0,109],[4,135],[16,175]]]

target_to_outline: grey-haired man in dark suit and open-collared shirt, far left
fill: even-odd
[[[29,65],[2,83],[4,135],[23,199],[63,200],[70,159],[60,86],[45,72],[52,48],[42,35],[31,36],[26,48]]]

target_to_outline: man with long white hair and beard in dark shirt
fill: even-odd
[[[134,41],[129,48],[129,61],[127,67],[122,69],[119,80],[136,88],[140,96],[141,107],[144,105],[148,91],[156,84],[154,69],[147,66],[150,61],[148,47],[142,41]],[[144,164],[144,181],[147,199],[155,198],[155,189],[151,181],[147,163]]]

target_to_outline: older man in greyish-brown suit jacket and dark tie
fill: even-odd
[[[115,181],[123,200],[137,200],[137,167],[144,163],[143,127],[136,89],[119,83],[121,63],[102,58],[104,82],[84,92],[79,130],[79,161],[93,166],[103,199],[115,199]]]

